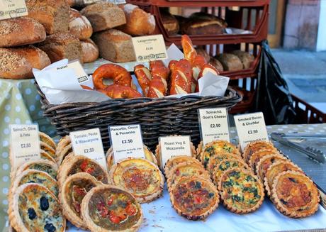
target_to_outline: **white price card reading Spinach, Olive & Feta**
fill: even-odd
[[[38,125],[9,125],[11,165],[19,167],[30,160],[40,160]]]

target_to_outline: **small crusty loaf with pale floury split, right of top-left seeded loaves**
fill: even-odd
[[[75,35],[79,40],[91,38],[93,33],[89,20],[75,9],[69,10],[69,33]]]

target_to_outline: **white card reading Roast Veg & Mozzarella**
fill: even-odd
[[[161,168],[164,168],[165,163],[172,156],[191,156],[190,136],[159,137],[159,145],[161,146]]]

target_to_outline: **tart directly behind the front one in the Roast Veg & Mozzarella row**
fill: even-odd
[[[179,181],[182,177],[201,177],[203,179],[210,180],[209,173],[205,170],[201,163],[196,162],[181,162],[176,165],[169,176],[167,176],[167,187],[170,189],[172,185]]]

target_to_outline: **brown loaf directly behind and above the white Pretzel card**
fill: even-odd
[[[81,43],[78,38],[68,33],[55,33],[48,35],[46,40],[39,44],[50,57],[51,62],[67,58],[68,60],[79,60],[83,62]]]

